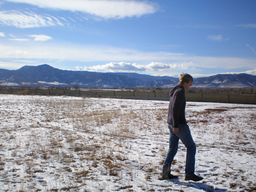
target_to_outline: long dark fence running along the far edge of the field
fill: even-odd
[[[51,88],[11,88],[0,87],[0,94],[17,95],[67,95],[80,97],[111,97],[124,99],[169,100],[169,93],[133,91],[133,90],[100,90],[100,89],[51,89]],[[187,101],[256,104],[256,95],[238,94],[203,94],[186,93]]]

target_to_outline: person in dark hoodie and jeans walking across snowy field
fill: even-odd
[[[178,178],[178,176],[170,174],[170,167],[178,152],[179,140],[183,142],[187,149],[185,180],[201,181],[203,179],[202,177],[195,175],[196,144],[191,136],[185,118],[185,90],[192,86],[192,82],[193,77],[187,73],[183,73],[180,75],[179,85],[170,90],[170,102],[167,117],[170,134],[169,149],[162,168],[162,178],[164,180]]]

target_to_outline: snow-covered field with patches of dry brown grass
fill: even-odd
[[[0,191],[255,191],[256,105],[187,102],[196,174],[180,143],[162,180],[168,102],[0,95]]]

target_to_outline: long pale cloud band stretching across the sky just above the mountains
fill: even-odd
[[[87,64],[83,66],[87,67],[82,66],[79,69],[88,71],[156,71],[159,74],[172,70],[189,71],[195,68],[233,70],[241,68],[241,63],[244,63],[242,67],[246,69],[254,69],[256,63],[256,59],[252,58],[189,56],[170,52],[143,52],[119,47],[53,45],[50,42],[36,46],[25,41],[22,46],[0,44],[0,57],[33,59],[37,63],[41,63],[42,60],[44,63],[84,62]],[[106,64],[89,67],[90,62]]]

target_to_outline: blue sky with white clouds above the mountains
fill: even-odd
[[[0,68],[256,75],[256,1],[0,0]]]

